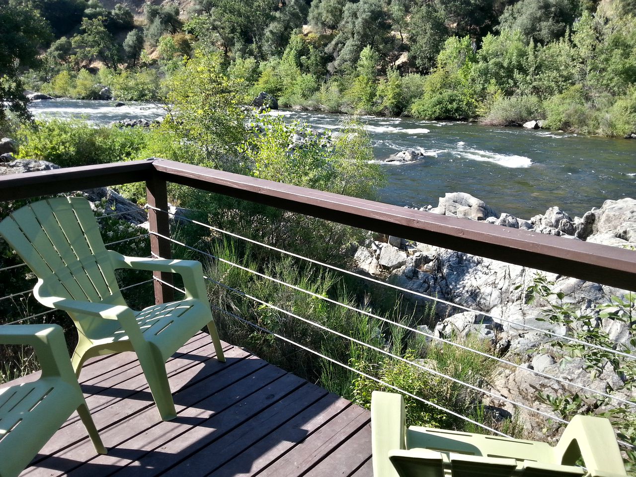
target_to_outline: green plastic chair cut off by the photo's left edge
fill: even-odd
[[[3,325],[0,344],[32,346],[42,367],[38,380],[0,389],[0,476],[20,474],[75,410],[95,450],[105,454],[71,368],[62,328]]]

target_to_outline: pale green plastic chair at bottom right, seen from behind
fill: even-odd
[[[371,446],[375,477],[627,475],[606,418],[575,416],[553,447],[500,436],[406,428],[404,400],[389,392],[371,395]],[[585,469],[576,465],[578,459],[583,459]]]

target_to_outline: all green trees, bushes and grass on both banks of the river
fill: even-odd
[[[52,18],[47,15],[53,15],[55,6],[60,4],[61,1],[29,3],[27,6],[32,9],[33,17],[22,17],[22,29],[17,28],[13,34],[25,35],[24,28],[29,22],[41,21],[38,23],[43,27],[41,39],[48,41],[45,20]],[[603,11],[596,4],[559,3],[563,11],[569,11],[571,15],[563,13],[562,22],[548,18],[550,21],[544,22],[546,36],[541,38],[529,38],[529,34],[523,33],[525,30],[522,27],[513,27],[517,20],[522,25],[522,20],[527,20],[527,14],[523,13],[525,10],[520,5],[530,10],[537,10],[543,5],[543,10],[539,11],[553,11],[555,8],[548,8],[550,3],[530,3],[526,0],[509,6],[512,10],[507,14],[508,17],[508,8],[504,10],[500,22],[501,32],[492,30],[497,24],[494,12],[490,17],[482,18],[476,16],[477,10],[457,10],[452,13],[448,10],[450,7],[435,2],[419,5],[405,2],[400,6],[397,1],[385,4],[366,0],[359,3],[314,0],[307,15],[317,32],[307,36],[294,31],[293,25],[298,25],[297,19],[286,16],[294,11],[292,7],[302,11],[304,3],[289,1],[282,10],[273,7],[267,10],[268,5],[265,3],[259,4],[261,10],[254,6],[251,11],[262,13],[270,19],[269,22],[263,22],[266,29],[264,26],[264,30],[258,32],[251,30],[251,23],[238,22],[244,12],[230,12],[232,15],[224,12],[223,8],[228,8],[226,4],[213,1],[197,3],[198,14],[185,24],[174,14],[174,8],[152,7],[146,11],[144,36],[138,44],[146,42],[145,45],[150,49],[156,43],[158,46],[153,53],[155,59],[151,58],[149,50],[144,53],[143,48],[132,48],[132,40],[128,43],[128,49],[124,49],[128,52],[126,57],[113,56],[113,52],[120,52],[114,48],[115,43],[91,43],[97,41],[95,38],[99,41],[114,41],[113,31],[125,31],[127,27],[121,25],[130,27],[130,15],[125,13],[125,9],[106,11],[99,3],[92,2],[90,8],[82,10],[79,7],[85,4],[73,0],[67,0],[65,4],[78,6],[77,11],[81,12],[76,17],[69,15],[66,18],[68,22],[76,18],[75,24],[67,25],[66,32],[54,34],[68,36],[73,29],[77,28],[78,31],[71,35],[70,46],[64,38],[60,38],[41,57],[40,60],[48,62],[52,69],[15,71],[13,83],[3,83],[4,89],[0,92],[9,101],[10,111],[23,117],[27,115],[21,107],[24,106],[18,94],[21,92],[17,91],[18,86],[22,87],[20,82],[25,81],[32,88],[55,95],[94,97],[109,86],[111,93],[121,99],[162,98],[165,100],[167,116],[148,130],[93,128],[81,121],[25,122],[16,125],[11,122],[10,115],[4,114],[6,110],[2,109],[0,120],[4,121],[3,127],[5,130],[11,128],[18,140],[18,158],[48,160],[72,166],[114,162],[122,158],[134,160],[162,156],[319,190],[374,197],[374,191],[382,183],[382,176],[378,166],[370,162],[373,156],[369,138],[355,121],[346,125],[343,135],[331,137],[307,132],[305,141],[299,146],[291,139],[302,129],[302,125],[286,125],[279,118],[252,116],[252,112],[244,107],[254,93],[261,90],[278,95],[282,104],[303,103],[333,111],[388,114],[410,111],[418,117],[427,118],[488,117],[488,114],[496,111],[506,111],[506,121],[516,122],[523,119],[518,111],[526,111],[523,113],[526,116],[535,115],[539,114],[537,108],[544,107],[546,111],[562,114],[563,121],[570,121],[584,111],[584,121],[572,127],[614,135],[633,130],[634,121],[630,116],[634,114],[633,103],[630,102],[634,99],[633,85],[630,83],[633,75],[625,73],[629,70],[631,60],[621,56],[628,46],[633,45],[629,40],[634,32],[633,19],[630,15],[619,17],[614,10]],[[11,0],[10,8],[0,6],[0,15],[15,17],[18,13],[11,8],[16,5],[24,6],[24,2]],[[329,13],[338,12],[339,5],[342,7],[342,20],[340,17],[336,17],[337,20],[329,19]],[[454,5],[453,8],[458,9],[461,6],[460,3]],[[41,15],[35,13],[36,7],[40,8]],[[249,10],[251,7],[246,2],[240,3],[237,8]],[[356,31],[371,31],[371,27],[358,24],[358,20],[383,24],[373,16],[373,12],[378,11],[373,10],[376,7],[381,11],[391,9],[391,25],[394,29],[399,27],[396,31],[400,34],[392,35],[390,30],[386,30],[384,34],[364,39],[362,43],[352,41],[357,38],[354,34]],[[629,7],[628,4],[612,5],[613,9]],[[47,13],[46,8],[52,10]],[[413,10],[409,11],[410,8]],[[427,10],[431,8],[436,10]],[[269,17],[268,11],[271,13]],[[226,16],[219,23],[215,15],[221,13]],[[298,16],[301,22],[304,21],[304,15]],[[417,32],[413,30],[417,18],[422,22],[424,19],[438,22],[437,29],[422,27],[422,31],[427,32],[426,41],[418,39]],[[576,23],[573,23],[574,18],[578,18]],[[341,25],[340,22],[345,20],[349,23]],[[509,27],[504,28],[505,25]],[[587,30],[584,25],[588,25],[585,27]],[[287,31],[289,27],[291,30]],[[56,24],[56,28],[62,29],[62,24]],[[389,27],[385,25],[383,28]],[[141,34],[139,29],[132,30],[130,34],[135,31]],[[584,32],[588,36],[581,36]],[[432,34],[439,36],[431,37]],[[139,37],[138,34],[135,36]],[[474,45],[471,36],[478,39]],[[410,50],[413,57],[410,67],[418,69],[420,73],[403,74],[397,67],[389,65],[389,44],[382,46],[377,41],[389,41],[391,38],[394,42],[398,37],[404,39],[403,43],[399,46],[390,43],[391,47],[397,48],[398,52],[401,48]],[[583,41],[584,38],[588,39],[588,43]],[[268,42],[272,42],[272,46],[268,46]],[[582,50],[577,46],[579,44],[588,45],[588,50]],[[435,51],[435,45],[441,46],[439,51]],[[623,50],[621,45],[625,47]],[[615,61],[607,57],[614,54],[612,51],[618,55]],[[583,52],[587,52],[584,75],[580,67],[583,60],[575,57]],[[27,53],[15,53],[11,59],[20,59],[20,55]],[[111,56],[107,57],[107,54]],[[104,67],[97,73],[91,73],[84,66],[95,59],[99,59]],[[0,66],[3,60],[0,57]],[[563,60],[562,69],[553,68],[556,60]],[[573,63],[575,60],[578,63]],[[528,69],[530,66],[532,69]],[[616,72],[626,69],[625,74],[617,75],[611,70],[614,67],[618,68]],[[560,73],[555,74],[554,71],[571,73],[572,76],[563,79],[565,76],[559,76]],[[326,79],[327,72],[330,73],[329,79]],[[22,74],[22,77],[17,73]],[[3,76],[3,81],[7,78]],[[620,80],[623,83],[618,84],[620,78],[623,78]],[[279,90],[276,90],[276,85]],[[572,108],[558,109],[563,104],[570,104],[563,102],[559,95],[574,98]],[[552,109],[551,101],[554,104]],[[612,111],[626,113],[617,116]],[[549,114],[552,113],[546,116],[548,121],[551,118]],[[618,126],[619,121],[623,121],[624,125]],[[145,191],[142,184],[126,184],[118,189],[131,200],[143,203]],[[287,251],[330,261],[334,265],[351,266],[350,244],[359,244],[368,239],[365,232],[350,227],[174,184],[170,186],[169,195],[173,204],[188,209],[190,219],[211,223],[228,232],[247,235],[250,239]],[[6,215],[19,205],[2,204],[1,215]],[[102,227],[109,240],[143,233],[116,219],[107,219]],[[301,261],[282,258],[276,252],[266,251],[256,245],[226,239],[221,234],[211,233],[207,228],[186,221],[174,221],[172,233],[177,240],[209,254],[202,256],[179,245],[174,245],[173,250],[177,258],[196,258],[205,262],[207,275],[211,279],[212,305],[215,309],[220,308],[217,310],[219,328],[229,342],[253,349],[258,356],[365,406],[370,403],[371,390],[382,387],[370,378],[373,377],[478,422],[494,425],[508,434],[520,436],[525,432],[518,417],[497,417],[479,393],[432,377],[403,361],[389,359],[378,351],[390,350],[396,356],[426,363],[430,368],[445,370],[459,380],[484,387],[495,372],[492,360],[487,357],[476,359],[473,354],[450,345],[440,347],[425,342],[419,335],[405,333],[403,328],[391,324],[432,327],[444,317],[440,310],[430,305],[415,306],[408,300],[401,300],[395,293],[364,286],[349,278],[336,277],[331,272],[317,270]],[[135,246],[139,247],[138,244]],[[3,267],[18,263],[6,244],[0,244],[0,247]],[[132,249],[129,243],[121,244],[118,250],[125,254],[148,253],[144,249]],[[271,280],[230,266],[221,259],[264,275],[275,276],[314,295],[282,287]],[[11,284],[15,292],[33,285],[29,273],[12,273],[11,270],[2,273],[1,282]],[[120,278],[127,280],[122,282],[123,286],[142,280],[142,277]],[[149,289],[132,290],[128,298],[137,307],[144,305]],[[251,297],[261,301],[254,301]],[[377,321],[366,314],[337,307],[321,297],[386,317],[390,322]],[[34,304],[28,294],[22,298],[3,300],[0,306],[3,307],[3,319],[18,319],[44,310]],[[298,316],[281,310],[370,343],[376,349],[352,343],[342,336],[324,333],[320,328],[301,321]],[[307,345],[310,349],[363,371],[367,377],[360,377],[336,364],[298,350],[270,333],[240,322],[232,315]],[[44,319],[65,325],[69,332],[69,344],[73,344],[73,329],[64,314],[53,313]],[[570,315],[567,319],[570,319]],[[475,336],[454,338],[458,341],[464,339],[467,346],[488,354],[497,353],[488,342]],[[570,351],[565,350],[565,354]],[[24,372],[28,369],[25,368],[25,362],[31,362],[29,355],[24,352],[9,352],[17,366],[11,366],[10,370],[3,369],[4,379]],[[600,356],[599,359],[607,358]],[[8,361],[3,359],[4,363]],[[629,378],[626,382],[631,380]],[[546,396],[545,399],[563,413],[595,411],[595,408],[579,404],[574,394]],[[479,430],[421,401],[408,400],[407,409],[411,424]],[[633,422],[632,414],[625,413],[621,418],[623,422]],[[635,440],[633,429],[621,429],[621,432],[624,440]]]

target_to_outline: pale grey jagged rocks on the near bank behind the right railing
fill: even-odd
[[[636,249],[636,200],[632,198],[607,200],[600,209],[588,211],[582,218],[571,218],[558,207],[530,219],[497,214],[483,201],[466,193],[448,193],[439,199],[437,207],[429,205],[420,210],[486,221],[493,226],[559,235],[569,240]],[[539,391],[548,396],[591,394],[529,372],[536,370],[598,391],[611,389],[613,395],[624,399],[632,398],[632,392],[625,387],[628,377],[612,367],[607,359],[602,359],[600,368],[591,368],[585,356],[567,356],[555,345],[555,336],[546,333],[573,336],[585,331],[588,324],[583,320],[568,325],[550,322],[543,310],[547,301],[529,303],[527,294],[527,289],[542,273],[546,282],[551,283],[552,303],[571,305],[579,315],[591,316],[593,327],[604,333],[615,348],[633,349],[630,341],[635,336],[633,322],[604,317],[598,307],[610,303],[612,296],[628,300],[628,291],[397,237],[376,236],[375,240],[368,240],[357,249],[354,261],[359,272],[459,305],[436,303],[438,321],[432,329],[420,328],[439,338],[457,339],[468,333],[477,334],[492,345],[498,356],[520,364],[521,368],[499,367],[490,383],[490,391],[495,394],[549,413],[553,412],[553,406],[541,402]],[[560,293],[562,303],[556,303],[559,301],[556,294]],[[414,303],[432,303],[418,294],[404,293],[404,296]],[[633,301],[629,306],[633,313]],[[490,399],[490,404],[500,408],[500,413],[504,411],[503,415],[505,411],[516,411],[530,436],[541,438],[545,432],[550,435],[550,429],[555,427],[554,422],[523,408],[515,410],[505,401]],[[605,404],[594,397],[583,397],[581,406],[588,406],[588,410],[605,409]]]

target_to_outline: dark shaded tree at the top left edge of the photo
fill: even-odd
[[[23,119],[31,117],[20,73],[38,64],[38,48],[50,40],[51,34],[39,11],[27,0],[1,2],[0,25],[1,127],[7,119],[7,110]]]

